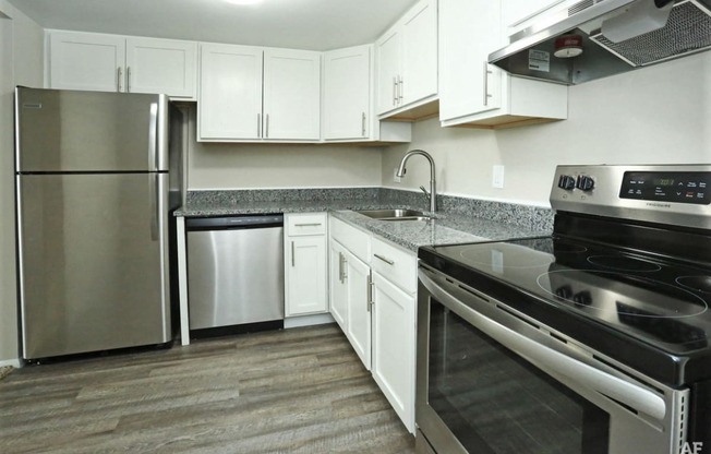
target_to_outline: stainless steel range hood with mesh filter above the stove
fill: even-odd
[[[711,0],[565,1],[489,56],[526,77],[579,84],[711,48]]]

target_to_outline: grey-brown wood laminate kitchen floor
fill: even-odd
[[[413,453],[335,324],[31,366],[0,381],[0,453]]]

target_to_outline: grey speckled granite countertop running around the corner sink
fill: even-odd
[[[419,247],[429,244],[497,241],[551,234],[550,223],[537,223],[535,219],[516,219],[518,223],[492,220],[496,216],[491,216],[489,212],[456,213],[445,210],[434,213],[435,218],[431,220],[399,222],[373,219],[354,212],[357,210],[383,208],[411,208],[422,211],[420,206],[378,200],[377,198],[328,201],[287,200],[277,202],[202,200],[186,203],[176,212],[176,216],[203,217],[267,213],[330,212],[341,220],[372,231],[413,252],[417,252]]]

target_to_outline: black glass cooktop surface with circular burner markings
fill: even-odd
[[[709,345],[711,270],[556,236],[430,250],[449,268],[473,270],[654,348],[680,355]]]

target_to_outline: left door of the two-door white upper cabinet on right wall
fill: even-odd
[[[398,81],[400,79],[400,40],[398,31],[390,31],[375,43],[377,56],[377,112],[385,113],[400,105]]]

